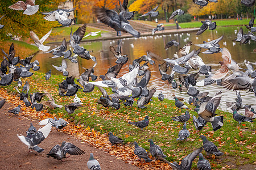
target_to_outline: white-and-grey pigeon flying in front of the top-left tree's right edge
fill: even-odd
[[[65,26],[65,27],[69,27],[72,22],[73,19],[69,19],[68,16],[70,15],[70,12],[74,11],[75,8],[72,9],[57,9],[55,11],[51,11],[51,12],[42,12],[41,14],[46,15],[44,16],[45,20],[48,21],[57,21],[59,22],[61,25]]]

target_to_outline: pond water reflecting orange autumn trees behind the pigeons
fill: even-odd
[[[247,32],[247,29],[245,27],[242,27],[244,32]],[[133,59],[139,58],[146,54],[146,51],[151,51],[155,54],[158,54],[162,58],[172,58],[173,54],[176,53],[176,51],[182,47],[183,45],[187,44],[187,42],[192,41],[193,44],[201,44],[203,41],[210,41],[217,39],[218,37],[224,35],[224,39],[220,42],[221,47],[226,47],[232,54],[232,59],[236,61],[242,68],[246,68],[243,61],[247,59],[251,62],[256,62],[256,53],[253,53],[253,49],[256,48],[256,43],[251,42],[250,44],[243,44],[239,45],[239,42],[236,42],[236,45],[233,44],[232,40],[236,38],[236,34],[234,33],[234,30],[240,29],[240,27],[220,27],[215,29],[214,31],[205,31],[202,35],[196,36],[196,32],[191,33],[180,33],[180,34],[170,34],[170,35],[163,35],[163,36],[150,36],[150,37],[141,37],[139,39],[136,38],[129,38],[129,39],[123,39],[123,45],[122,45],[122,54],[127,54],[129,57],[129,61],[123,66],[121,72],[119,73],[119,76],[127,73],[129,71],[128,67],[129,64],[132,63]],[[164,46],[166,42],[170,40],[176,40],[180,42],[180,46],[172,46],[171,48],[164,50]],[[117,40],[108,40],[108,41],[96,41],[96,42],[83,42],[81,44],[90,51],[90,54],[92,56],[95,56],[97,58],[97,66],[94,69],[95,75],[105,75],[106,71],[109,69],[110,66],[115,65],[115,57],[113,54],[109,51],[109,46],[117,46]],[[54,45],[51,46],[51,48],[55,48]],[[197,46],[193,46],[191,49],[198,49]],[[201,52],[203,52],[204,49],[202,49]],[[218,64],[218,61],[222,61],[221,53],[218,54],[201,54],[199,55],[205,64],[212,66],[212,73],[214,73],[217,69],[220,68],[220,65]],[[52,74],[61,74],[58,71],[56,71],[53,67],[53,65],[59,66],[61,63],[62,58],[55,58],[52,59],[52,54],[43,54],[38,53],[34,59],[38,59],[40,62],[40,70],[43,73],[46,73],[49,69],[52,69]],[[89,68],[94,65],[93,61],[88,61],[86,59],[78,58],[78,63],[72,63],[69,60],[68,62],[68,71],[69,75],[77,75],[81,74],[85,68]],[[153,87],[157,88],[157,91],[154,96],[158,96],[160,91],[163,92],[166,99],[173,99],[173,95],[183,97],[185,101],[188,101],[189,96],[187,95],[187,92],[179,92],[179,89],[177,88],[174,90],[171,87],[171,84],[168,82],[164,82],[161,79],[160,73],[158,71],[158,64],[159,62],[156,61],[156,65],[150,66],[151,69],[151,79],[148,83],[148,89],[150,90]],[[189,71],[188,74],[196,73],[196,71]],[[232,74],[231,71],[229,71],[229,74]],[[204,76],[201,75],[199,80],[203,79]],[[177,76],[176,76],[177,79]],[[200,92],[209,91],[209,96],[214,96],[217,91],[223,89],[222,92],[222,99],[220,107],[222,110],[227,110],[225,101],[234,101],[236,99],[236,92],[235,91],[229,91],[225,90],[221,86],[217,86],[216,84],[212,84],[210,86],[205,87],[197,87],[196,88]],[[241,91],[241,96],[244,104],[254,105],[256,106],[256,100],[254,97],[254,94],[252,92]]]

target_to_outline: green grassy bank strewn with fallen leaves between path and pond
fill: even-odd
[[[58,95],[58,83],[64,79],[64,76],[52,75],[51,79],[46,81],[43,73],[34,73],[31,78],[23,79],[23,82],[25,80],[30,82],[30,93],[47,90],[57,104],[65,105],[73,102],[73,96],[62,97]],[[15,92],[15,86],[16,82],[13,82],[11,86],[4,88],[11,94]],[[188,141],[176,141],[179,130],[183,128],[183,124],[172,121],[171,117],[179,116],[185,110],[180,113],[175,108],[174,100],[164,99],[164,101],[159,101],[153,97],[153,101],[147,105],[146,109],[138,109],[135,102],[133,107],[124,107],[121,104],[121,108],[115,110],[104,108],[102,105],[97,104],[96,100],[101,96],[97,87],[88,94],[79,90],[77,95],[85,106],[77,109],[75,113],[68,115],[64,107],[48,109],[47,112],[56,117],[67,118],[69,122],[73,122],[73,124],[80,128],[94,129],[101,134],[108,134],[109,131],[112,131],[118,137],[130,142],[131,146],[133,146],[133,141],[137,141],[147,151],[149,150],[148,139],[151,138],[157,145],[162,147],[164,154],[168,156],[167,160],[170,162],[179,162],[179,160],[195,150],[195,148],[203,146],[199,136],[204,134],[209,141],[216,144],[220,151],[224,152],[224,155],[219,158],[207,158],[212,165],[212,169],[221,169],[222,167],[238,169],[238,167],[243,165],[255,165],[256,129],[253,126],[255,123],[243,122],[239,125],[238,122],[233,120],[232,113],[216,111],[218,116],[224,116],[224,126],[220,130],[213,132],[211,125],[208,123],[202,131],[196,131],[193,126],[192,114],[197,115],[197,113],[193,112],[191,105],[188,105],[191,119],[187,122],[187,128],[191,135]],[[48,99],[44,97],[43,100]],[[150,124],[147,128],[144,128],[144,131],[127,123],[128,121],[143,120],[144,116],[150,117]],[[115,147],[110,149],[110,154],[116,154]],[[206,152],[202,152],[206,156]],[[196,162],[197,160],[198,158]],[[161,162],[156,162],[156,164],[161,165]],[[193,163],[193,169],[196,169],[196,163]]]

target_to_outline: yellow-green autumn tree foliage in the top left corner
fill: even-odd
[[[57,5],[64,0],[41,0],[35,1],[35,5],[39,5],[39,11],[34,15],[25,15],[23,11],[15,11],[8,8],[17,1],[0,1],[0,16],[5,15],[1,19],[1,24],[4,24],[0,30],[1,40],[10,39],[10,36],[18,36],[27,38],[30,36],[30,31],[36,32],[36,35],[42,37],[52,27],[56,27],[57,22],[48,22],[43,19],[44,15],[40,12],[56,10]]]

